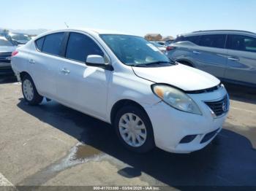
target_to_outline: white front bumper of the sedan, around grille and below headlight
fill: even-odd
[[[214,101],[225,95],[224,87],[211,93],[189,95],[200,107],[202,115],[178,111],[162,101],[146,106],[156,146],[176,153],[189,153],[206,147],[222,129],[227,112],[214,117],[205,101]]]

